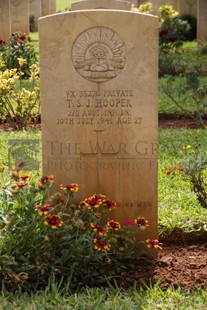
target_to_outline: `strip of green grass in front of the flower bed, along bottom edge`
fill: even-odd
[[[76,294],[64,295],[57,286],[51,285],[34,296],[5,293],[0,296],[0,302],[5,310],[204,310],[207,292],[199,289],[183,292],[173,288],[164,292],[157,285],[141,291],[132,287],[125,292],[116,287],[86,288]]]

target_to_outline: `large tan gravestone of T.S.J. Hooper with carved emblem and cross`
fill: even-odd
[[[127,25],[127,27],[126,27]],[[157,238],[158,19],[121,10],[41,18],[43,172],[103,193]]]

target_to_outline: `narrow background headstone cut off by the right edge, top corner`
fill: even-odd
[[[197,39],[207,40],[207,2],[198,0]]]

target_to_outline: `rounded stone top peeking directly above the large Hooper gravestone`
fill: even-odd
[[[88,9],[131,10],[131,2],[119,0],[83,0],[71,3],[71,11]]]

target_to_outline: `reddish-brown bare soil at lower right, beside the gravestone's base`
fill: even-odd
[[[116,281],[124,289],[133,284],[143,287],[143,282],[148,286],[159,283],[163,289],[207,289],[207,243],[164,244],[157,260],[130,262]]]

